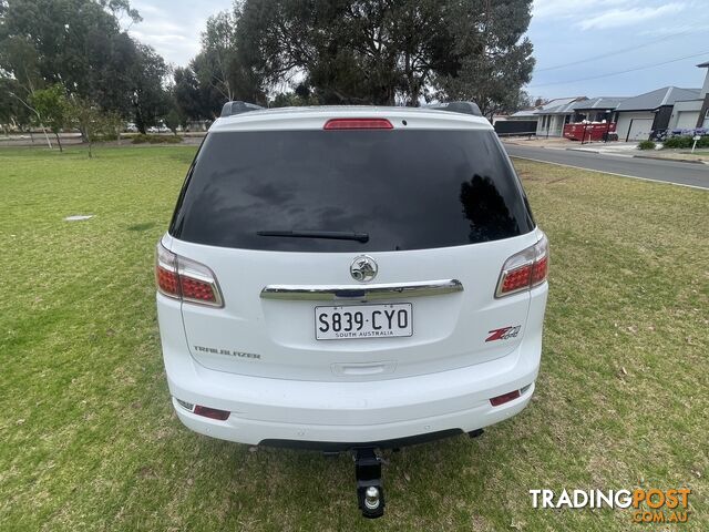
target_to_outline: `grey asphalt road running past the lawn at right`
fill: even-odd
[[[672,183],[709,190],[709,165],[658,161],[630,156],[605,155],[574,150],[527,147],[505,143],[511,157],[531,158],[545,163],[563,164],[585,170],[595,170],[626,177]]]

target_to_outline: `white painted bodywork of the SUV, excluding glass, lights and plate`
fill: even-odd
[[[245,113],[219,119],[209,134],[321,129],[337,116],[383,116],[395,127],[492,127],[484,119],[441,111],[333,108]],[[167,249],[214,272],[225,304],[213,308],[157,295],[171,393],[232,415],[215,421],[175,401],[176,412],[197,432],[249,444],[379,441],[470,431],[506,419],[526,406],[534,389],[547,284],[499,299],[494,291],[505,260],[541,237],[534,229],[458,247],[368,252],[379,266],[377,284],[459,279],[464,289],[376,301],[412,304],[411,337],[318,341],[315,307],[331,300],[266,299],[260,291],[267,285],[366,286],[349,273],[357,254],[232,249],[165,235]],[[517,325],[517,337],[485,342],[493,329]],[[490,398],[527,386],[521,398],[491,406]]]

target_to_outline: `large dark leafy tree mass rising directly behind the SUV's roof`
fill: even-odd
[[[264,91],[297,81],[321,103],[408,105],[475,95],[487,110],[528,81],[532,45],[520,39],[531,4],[246,0],[236,50]]]

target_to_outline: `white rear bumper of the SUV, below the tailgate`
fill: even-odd
[[[487,427],[516,415],[532,398],[546,287],[536,296],[524,340],[510,355],[455,370],[387,380],[323,382],[215,371],[195,361],[184,336],[164,335],[175,411],[196,432],[248,444],[286,440],[304,447],[331,442],[339,448]],[[179,304],[162,301],[158,319],[161,329],[179,323]],[[493,397],[521,389],[525,390],[517,399],[499,407],[490,403]],[[176,399],[232,413],[226,421],[213,420],[192,413]]]

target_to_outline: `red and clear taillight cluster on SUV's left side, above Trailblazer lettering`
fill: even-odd
[[[222,293],[214,273],[204,264],[181,257],[157,244],[155,254],[157,291],[188,303],[222,307]]]

